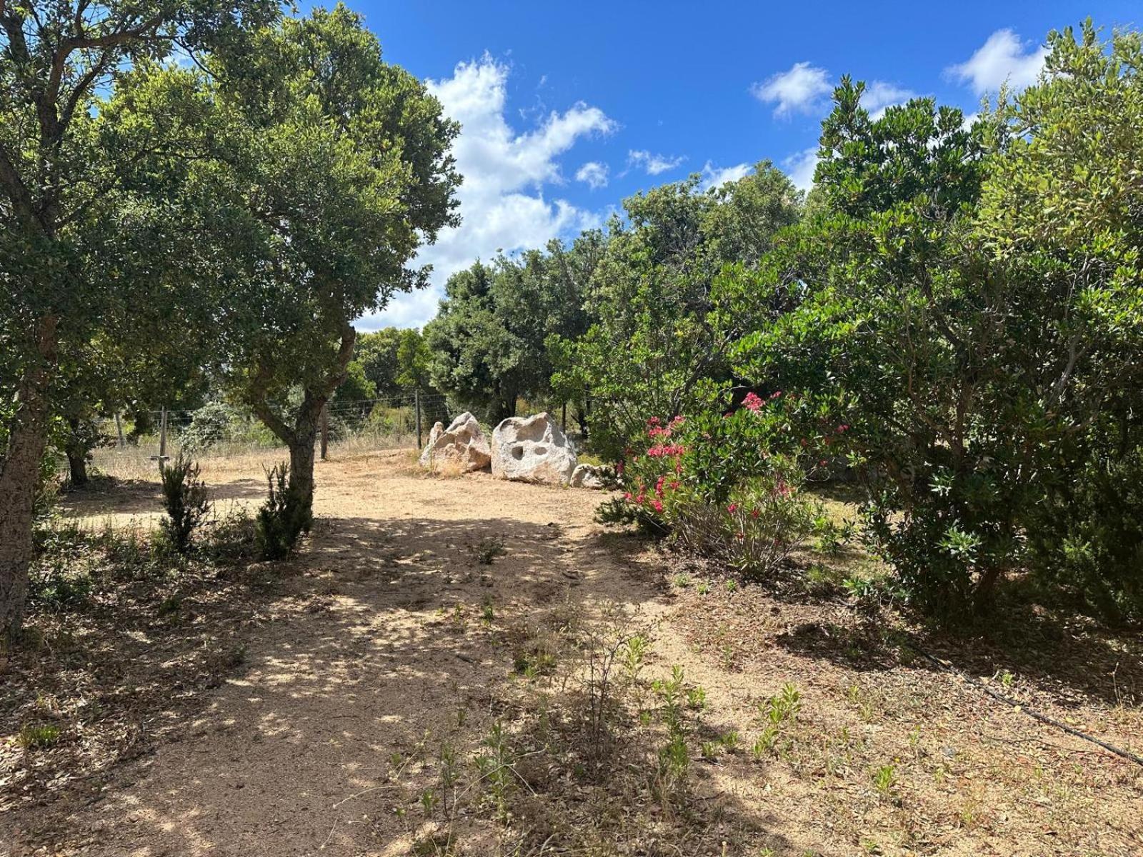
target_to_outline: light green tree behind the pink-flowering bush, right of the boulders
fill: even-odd
[[[592,449],[613,460],[648,417],[700,411],[698,382],[728,379],[725,338],[708,320],[712,283],[727,263],[756,264],[798,217],[800,194],[768,162],[720,189],[698,181],[624,200],[592,274],[592,326],[552,343],[553,384],[590,398]]]

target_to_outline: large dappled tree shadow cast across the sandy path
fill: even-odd
[[[473,548],[485,539],[504,555],[481,562]],[[106,761],[94,794],[61,780],[0,831],[95,856],[379,851],[415,826],[423,788],[439,788],[442,747],[470,758],[512,716],[501,692],[517,681],[511,630],[606,576],[590,556],[601,548],[511,519],[322,518],[288,563],[233,576],[269,577],[264,586],[187,586],[177,619],[157,617],[158,592],[135,593],[130,609],[107,603],[86,617],[69,664],[134,694],[123,711],[142,730],[135,750]],[[183,663],[223,646],[241,655],[215,664],[213,679]],[[9,683],[6,694],[27,697],[10,699],[9,714],[26,711],[38,686]],[[471,768],[464,776],[479,780]],[[776,824],[734,795],[719,801],[752,828]],[[698,826],[708,818],[716,824],[704,811]],[[491,814],[462,826],[496,833]]]

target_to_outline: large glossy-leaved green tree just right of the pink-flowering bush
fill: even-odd
[[[1073,79],[1101,86],[1053,43]],[[823,123],[815,216],[783,235],[761,278],[724,283],[720,313],[741,331],[736,370],[802,402],[792,427],[814,457],[848,456],[868,489],[865,536],[911,600],[950,615],[986,603],[1023,562],[1028,513],[1063,447],[1079,451],[1077,427],[1122,400],[1109,375],[1134,371],[1122,325],[1137,299],[1113,301],[1120,327],[1077,323],[1090,315],[1078,259],[1053,275],[1034,254],[1004,258],[1012,213],[1052,210],[1028,185],[1013,195],[1008,176],[1021,159],[1045,169],[1022,153],[1042,123],[1026,135],[1008,119],[1001,133],[1001,112],[966,129],[930,99],[872,120],[861,91],[844,79]],[[1042,99],[1033,87],[1004,110]]]

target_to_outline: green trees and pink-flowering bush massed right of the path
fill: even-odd
[[[570,251],[457,274],[434,383],[491,416],[581,403],[628,488],[608,515],[733,542],[744,570],[784,555],[798,483],[831,475],[864,489],[885,585],[933,614],[1030,569],[1140,618],[1141,41],[1088,24],[1049,48],[972,120],[930,98],[873,119],[842,79],[806,200],[767,163],[695,177]]]

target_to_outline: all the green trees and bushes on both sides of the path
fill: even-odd
[[[359,336],[426,285],[461,181],[457,126],[360,19],[33,6],[0,0],[5,644],[48,452],[82,482],[101,415],[255,415],[289,449],[259,515],[285,551],[322,408],[414,394],[566,407],[623,482],[605,518],[744,574],[817,526],[808,479],[846,479],[890,596],[957,616],[1031,572],[1143,616],[1138,33],[1053,33],[1040,82],[970,120],[874,119],[842,79],[808,197],[768,161],[655,187],[454,274],[423,331]]]

